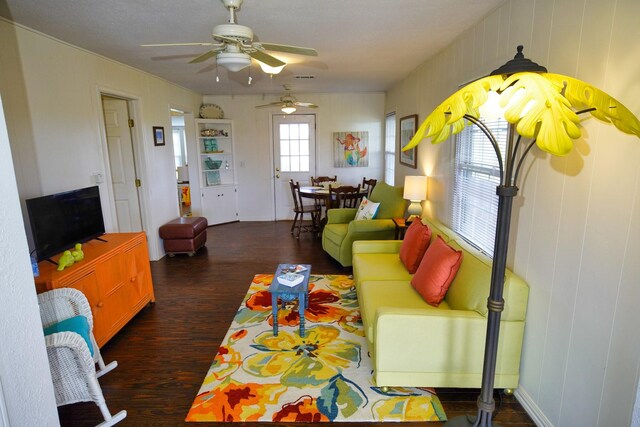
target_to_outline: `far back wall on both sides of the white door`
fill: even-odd
[[[277,77],[276,77],[277,78]],[[316,174],[337,175],[340,182],[359,184],[362,177],[382,179],[384,175],[384,93],[298,94],[304,102],[318,105],[300,113],[316,115]],[[238,181],[238,210],[241,221],[273,220],[273,145],[271,120],[277,108],[255,108],[277,101],[274,96],[205,96],[216,103],[225,118],[234,121],[235,168]],[[282,114],[282,113],[280,113]],[[333,132],[369,132],[369,167],[334,168]],[[195,146],[189,154],[195,153]],[[191,160],[193,163],[195,160]]]

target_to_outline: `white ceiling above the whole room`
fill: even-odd
[[[201,94],[385,91],[504,0],[245,0],[238,23],[260,41],[313,47],[317,57],[277,54],[275,78],[255,61],[227,72],[215,59],[189,64],[228,20],[220,0],[0,0],[0,15]],[[252,84],[248,85],[249,73]],[[296,76],[314,76],[313,79]]]

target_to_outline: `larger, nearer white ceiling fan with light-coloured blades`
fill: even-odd
[[[236,12],[242,6],[243,0],[220,0],[229,10],[229,23],[216,25],[211,37],[214,42],[196,43],[161,43],[145,44],[149,46],[210,46],[211,50],[196,56],[189,63],[206,61],[216,57],[218,65],[222,65],[229,71],[240,71],[251,64],[251,58],[270,67],[284,67],[285,62],[275,58],[265,51],[286,52],[297,55],[318,56],[315,49],[309,47],[290,46],[285,44],[263,43],[254,41],[251,28],[236,22]]]

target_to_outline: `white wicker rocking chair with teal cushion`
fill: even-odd
[[[87,318],[89,330],[93,330],[91,307],[84,294],[77,289],[61,288],[38,295],[40,317],[43,327],[74,316]],[[57,332],[45,336],[47,356],[51,368],[51,377],[58,406],[77,402],[92,401],[104,417],[99,427],[112,426],[127,416],[127,411],[120,411],[112,416],[105,403],[98,377],[118,366],[117,362],[105,365],[100,349],[93,333],[90,334],[93,344],[93,357],[87,342],[75,332]],[[99,370],[96,371],[96,364]]]

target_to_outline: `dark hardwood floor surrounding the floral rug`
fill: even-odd
[[[207,245],[194,257],[151,263],[156,303],[102,349],[107,363],[118,361],[118,368],[100,378],[100,384],[111,413],[128,412],[119,425],[187,424],[187,411],[255,274],[271,273],[279,262],[312,264],[316,274],[351,274],[322,250],[319,238],[304,233],[297,240],[290,226],[285,221],[209,227]],[[478,390],[437,393],[448,417],[475,414]],[[501,426],[535,426],[513,396],[496,393],[496,404],[495,421]],[[63,426],[95,426],[102,420],[93,403],[58,410]]]

